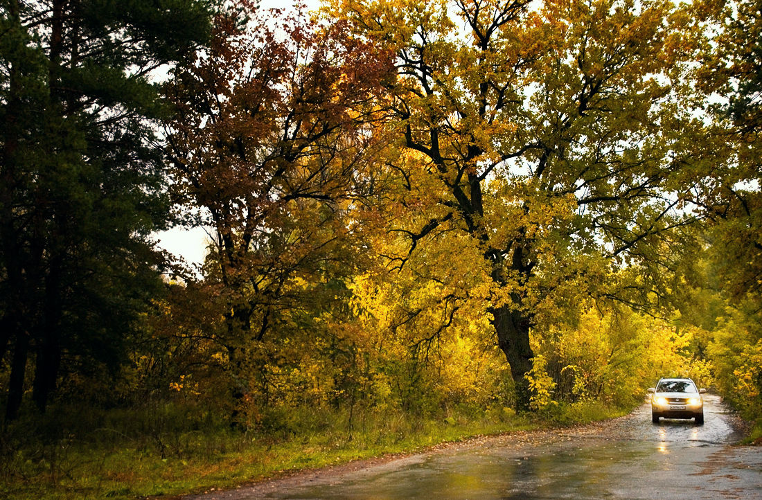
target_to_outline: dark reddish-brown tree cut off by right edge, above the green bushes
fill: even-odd
[[[721,184],[703,207],[716,222],[712,247],[725,291],[736,302],[760,301],[762,13],[759,2],[706,2],[705,8],[721,29],[703,53],[700,82],[707,93],[724,99],[712,111],[727,146]]]

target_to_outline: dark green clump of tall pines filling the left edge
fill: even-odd
[[[34,354],[44,411],[62,370],[116,368],[168,220],[152,72],[207,37],[205,0],[2,2],[0,358],[15,418]],[[172,30],[167,30],[167,26]]]

